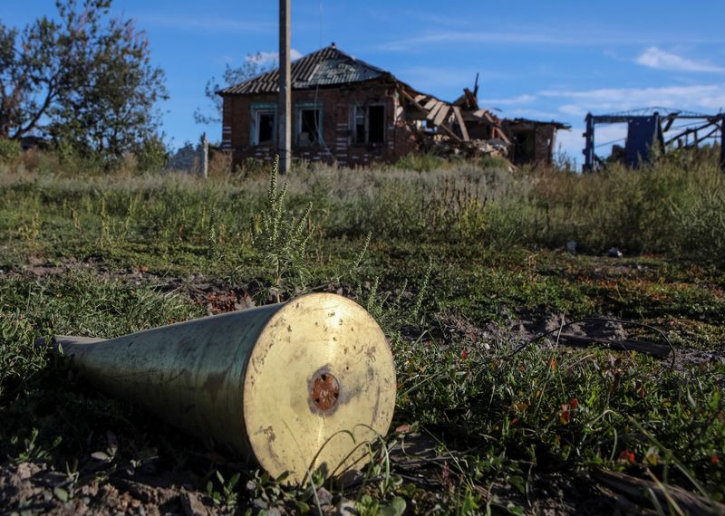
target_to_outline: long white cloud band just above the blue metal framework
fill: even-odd
[[[559,110],[569,115],[662,106],[680,110],[725,108],[725,83],[662,88],[603,88],[589,91],[545,90],[539,96],[563,100]]]

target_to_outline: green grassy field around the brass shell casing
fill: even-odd
[[[0,509],[94,500],[179,471],[221,513],[314,511],[325,493],[362,514],[566,511],[577,489],[606,499],[594,478],[611,469],[725,500],[725,184],[713,163],[682,159],[576,176],[411,157],[421,171],[304,169],[285,189],[5,166],[0,467],[32,463],[63,482],[9,492]],[[625,256],[603,255],[612,246]],[[353,487],[319,476],[289,487],[229,462],[33,345],[188,320],[229,296],[338,289],[382,324],[399,379],[397,430]],[[513,352],[527,339],[517,320],[592,314],[662,329],[677,367],[554,342]],[[420,440],[434,450],[422,476],[388,454]],[[570,501],[546,505],[557,475],[573,479]]]

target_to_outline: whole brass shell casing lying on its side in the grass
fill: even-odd
[[[303,482],[367,460],[395,406],[391,349],[367,311],[304,295],[118,339],[57,337],[103,391]]]

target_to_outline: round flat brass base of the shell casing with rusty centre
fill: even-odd
[[[385,435],[395,368],[380,326],[333,294],[290,301],[269,320],[247,365],[244,417],[256,460],[292,482],[361,466]]]

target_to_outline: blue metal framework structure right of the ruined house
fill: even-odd
[[[622,123],[627,124],[627,136],[623,139],[623,159],[630,167],[639,167],[642,162],[649,161],[652,148],[660,148],[666,152],[675,146],[694,148],[705,140],[719,139],[720,168],[725,171],[725,113],[707,115],[667,108],[645,108],[608,115],[586,115],[586,130],[583,134],[585,148],[582,151],[585,156],[585,172],[593,172],[604,165],[604,160],[596,155],[597,147],[620,141],[594,145],[596,126]]]

